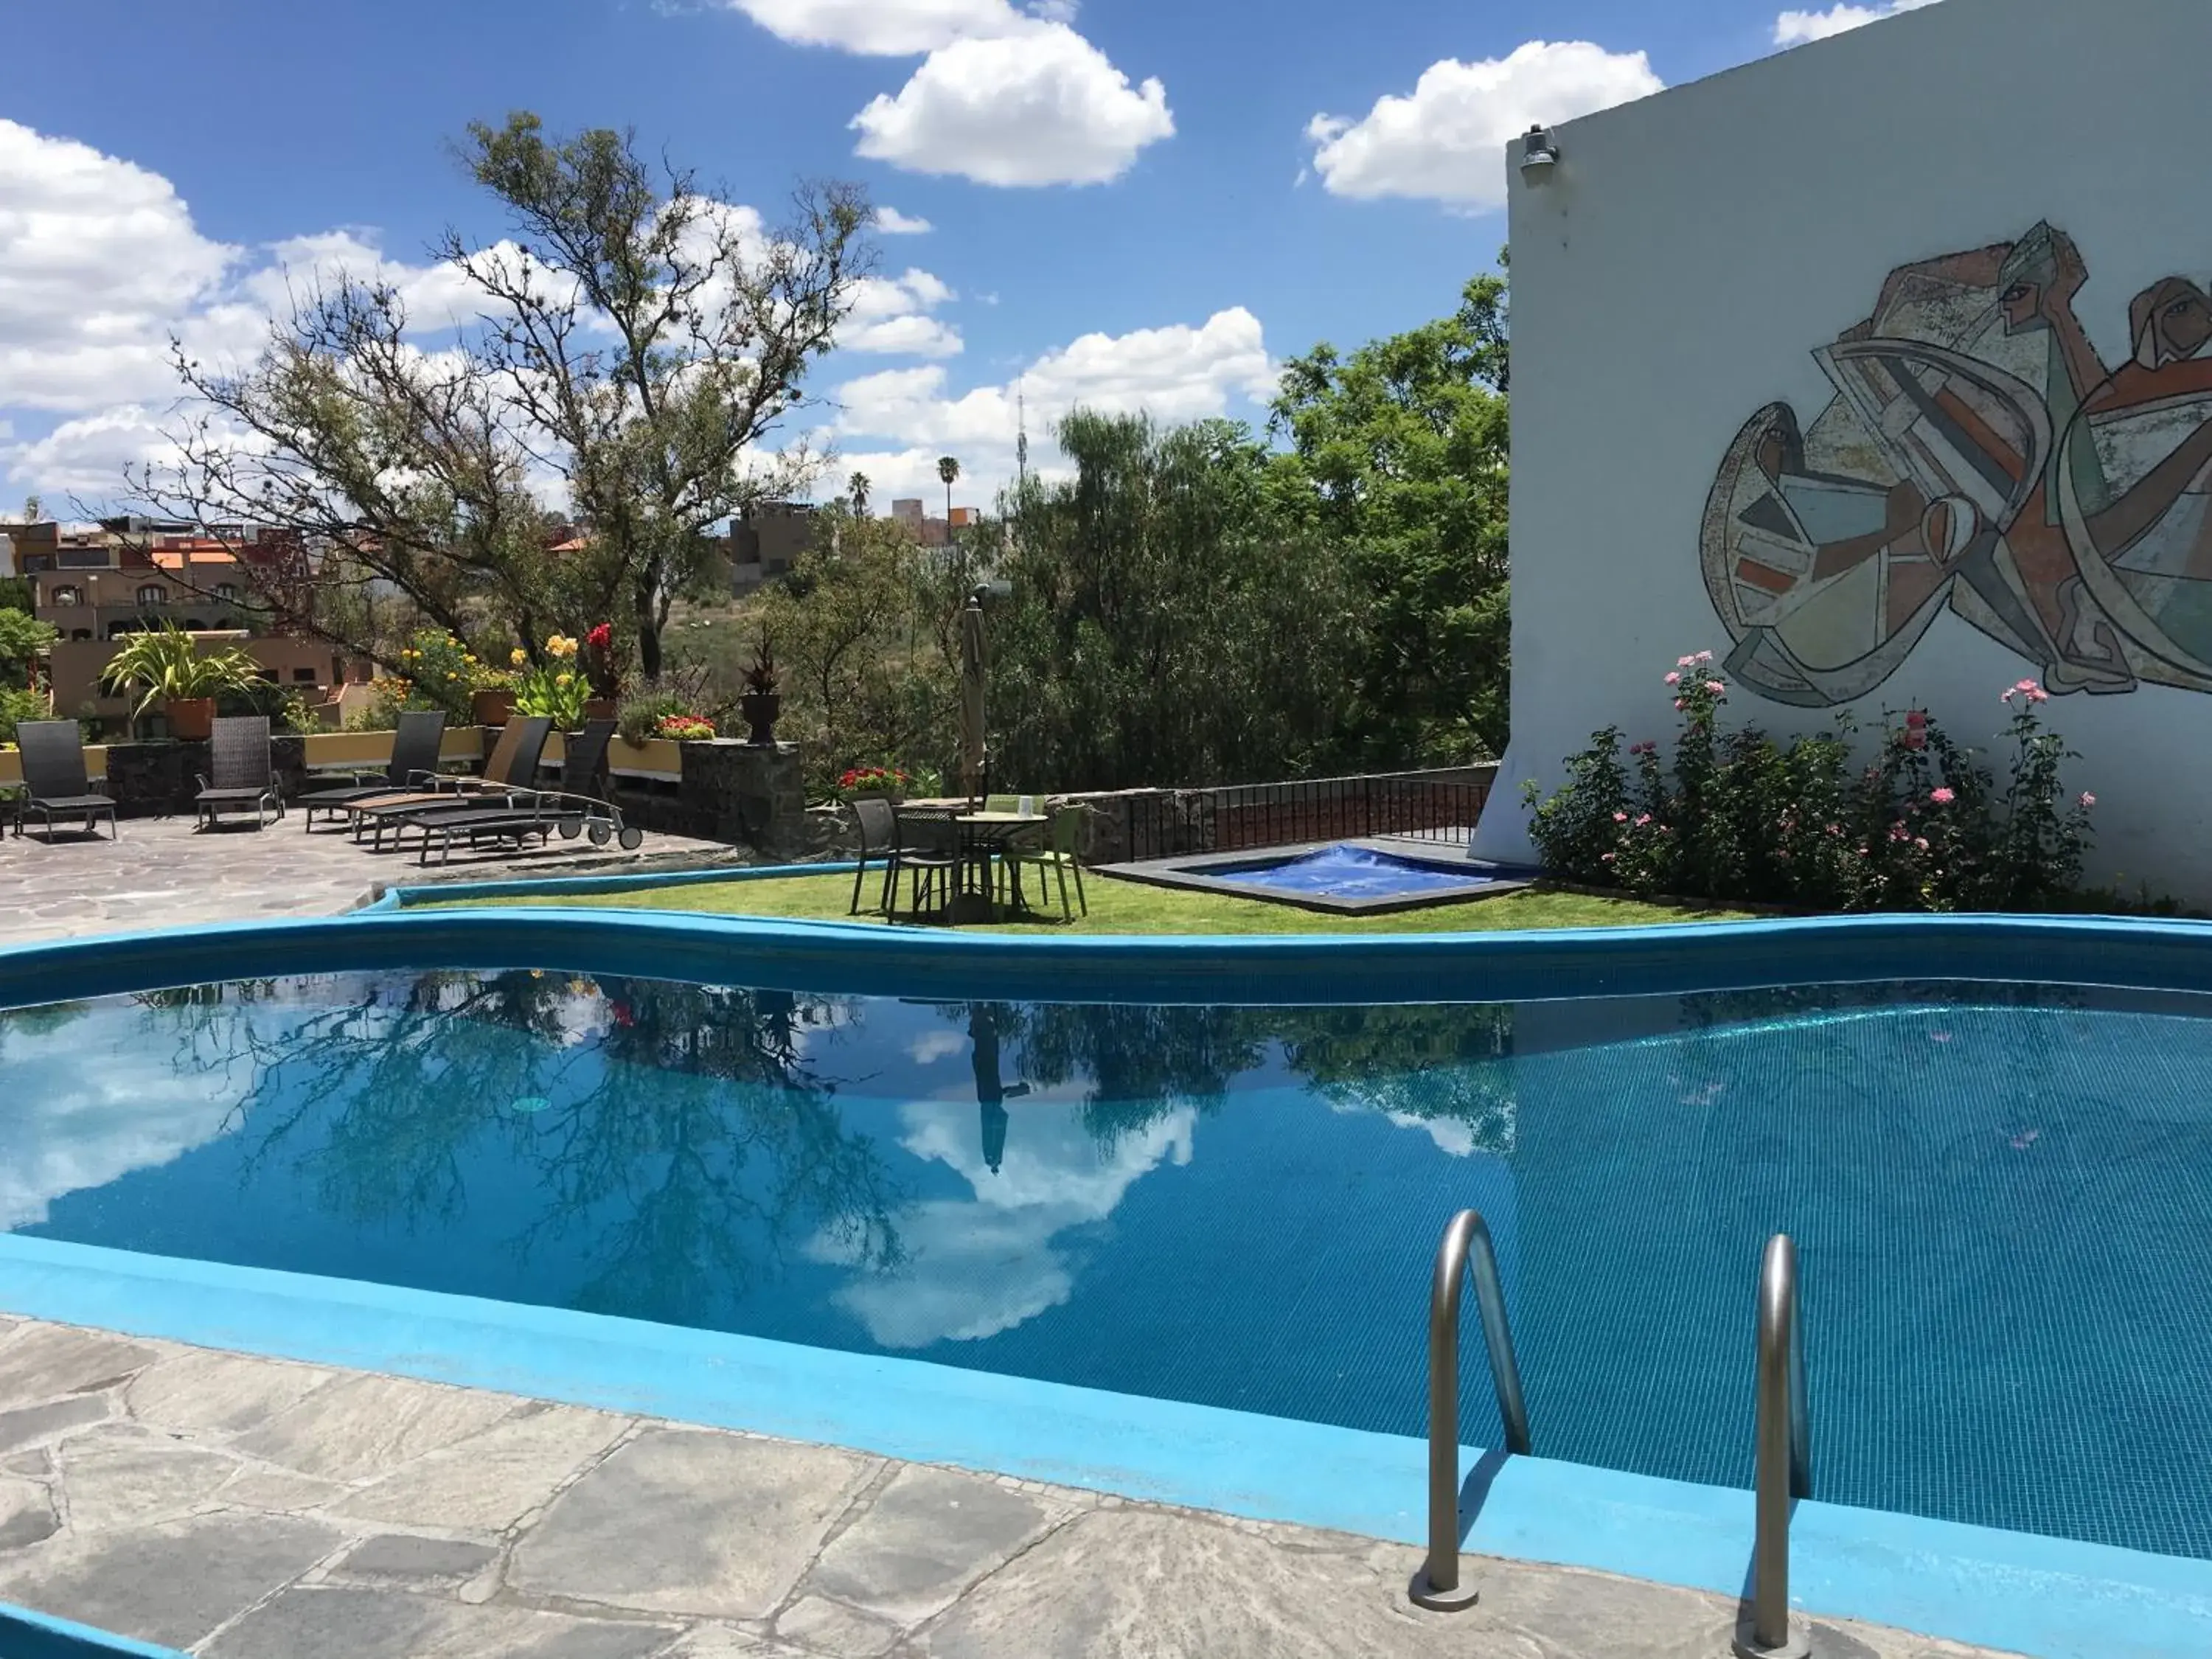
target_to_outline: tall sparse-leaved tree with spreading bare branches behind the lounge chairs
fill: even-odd
[[[549,137],[529,113],[471,126],[460,159],[509,221],[438,248],[471,321],[341,276],[239,374],[177,345],[197,409],[179,462],[135,482],[164,511],[338,549],[462,637],[484,606],[531,653],[617,619],[657,679],[670,604],[712,568],[706,529],[807,471],[759,456],[849,310],[867,201],[805,186],[770,232],[628,133]],[[425,325],[449,343],[418,349]],[[584,526],[566,553],[546,478]]]

